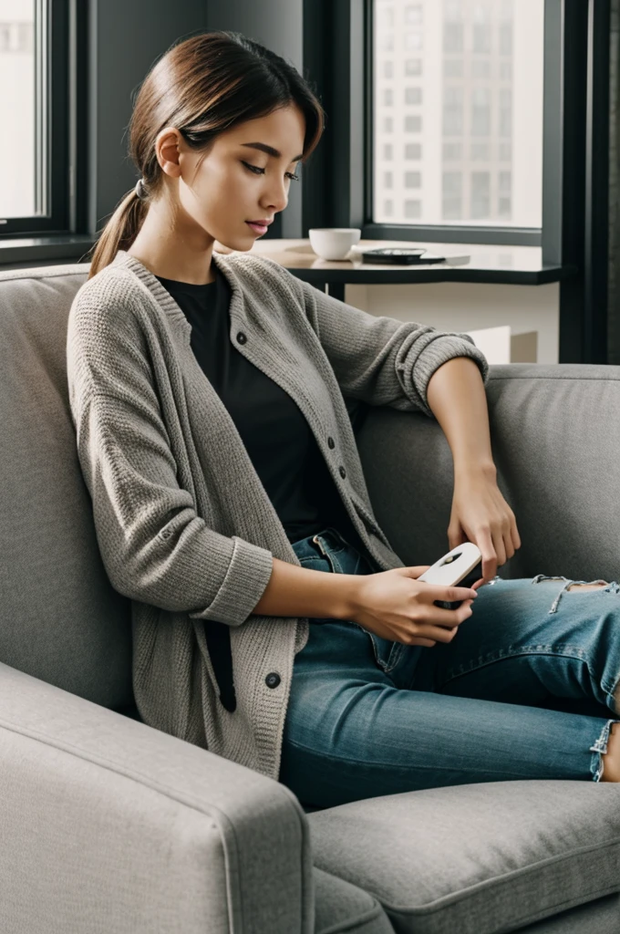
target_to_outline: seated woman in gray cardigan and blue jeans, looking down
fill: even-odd
[[[178,43],[135,100],[141,178],[72,305],[67,375],[106,572],[132,600],[140,715],[307,807],[617,781],[618,585],[496,575],[521,543],[491,457],[484,355],[249,252],[322,128],[295,69],[233,33]],[[448,546],[480,547],[475,587],[403,567],[345,400],[440,422]],[[545,707],[564,701],[579,710]]]

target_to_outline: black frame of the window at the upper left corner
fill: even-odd
[[[0,246],[8,239],[76,233],[83,224],[86,177],[83,133],[78,121],[86,97],[86,4],[35,0],[35,213],[4,218]],[[81,111],[80,111],[81,108]],[[45,144],[45,145],[43,145]],[[45,196],[48,197],[48,212]],[[0,209],[1,210],[1,209]]]

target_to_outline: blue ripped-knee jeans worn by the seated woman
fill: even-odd
[[[292,547],[304,568],[380,570],[332,528]],[[620,722],[620,587],[571,583],[595,582],[498,576],[452,642],[433,646],[311,619],[279,781],[307,808],[473,782],[598,782]]]

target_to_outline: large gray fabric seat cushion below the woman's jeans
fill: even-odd
[[[620,891],[612,783],[430,788],[307,820],[315,866],[378,899],[399,934],[519,930]]]

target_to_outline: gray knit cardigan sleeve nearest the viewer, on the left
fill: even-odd
[[[123,305],[103,313],[77,293],[67,330],[77,458],[106,573],[133,600],[240,626],[269,583],[273,555],[196,514],[179,484],[187,471],[171,447],[144,336]]]

